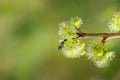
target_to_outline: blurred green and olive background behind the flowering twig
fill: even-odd
[[[0,80],[120,80],[119,39],[106,43],[116,57],[104,69],[57,49],[59,22],[79,16],[82,31],[110,32],[117,11],[120,0],[0,0]]]

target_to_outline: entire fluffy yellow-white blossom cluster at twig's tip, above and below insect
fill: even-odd
[[[58,34],[60,35],[60,45],[63,47],[61,51],[68,58],[77,58],[86,54],[84,50],[85,43],[79,39],[74,39],[78,36],[76,28],[80,28],[81,24],[83,22],[77,16],[71,18],[69,21],[60,23]],[[67,41],[62,43],[65,39]]]

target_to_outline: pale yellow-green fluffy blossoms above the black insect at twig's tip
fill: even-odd
[[[83,24],[81,18],[73,17],[69,21],[61,22],[59,25],[58,35],[61,39],[71,39],[77,36],[77,29]]]

